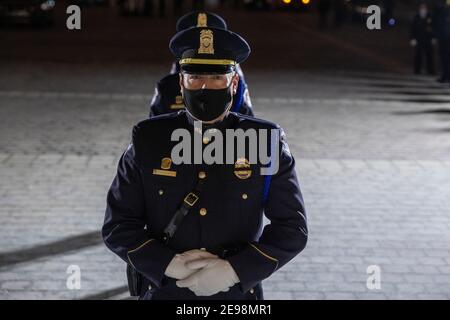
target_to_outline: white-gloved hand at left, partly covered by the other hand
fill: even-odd
[[[217,258],[217,256],[207,251],[198,249],[189,250],[181,254],[176,254],[173,257],[172,261],[170,261],[164,274],[170,278],[184,279],[196,271],[195,268],[188,268],[186,266],[186,263],[205,258],[212,259]]]

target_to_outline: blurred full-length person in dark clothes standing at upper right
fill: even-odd
[[[433,19],[426,3],[419,4],[414,16],[410,33],[411,46],[415,48],[414,73],[420,74],[425,59],[428,74],[434,74],[433,45],[436,43],[433,33]]]

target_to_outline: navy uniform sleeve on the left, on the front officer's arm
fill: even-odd
[[[175,252],[148,236],[144,212],[142,180],[131,144],[108,191],[102,236],[111,251],[160,287]]]

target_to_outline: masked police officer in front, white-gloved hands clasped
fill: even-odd
[[[141,299],[262,299],[261,281],[307,241],[294,158],[279,126],[230,112],[236,65],[250,54],[243,38],[191,28],[177,33],[170,49],[180,62],[186,109],[133,128],[107,195],[103,239],[143,275]],[[250,161],[248,141],[244,156],[238,151],[231,162],[179,163],[172,156],[177,129],[192,135],[192,144],[200,142],[203,152],[230,142],[226,134],[220,143],[207,132],[254,130],[259,146],[263,132],[270,132],[266,147],[277,166],[263,174],[267,163]],[[270,221],[264,228],[263,214]]]

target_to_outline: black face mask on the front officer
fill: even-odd
[[[233,100],[230,86],[225,89],[183,89],[184,103],[189,113],[200,121],[212,121],[227,111]]]

